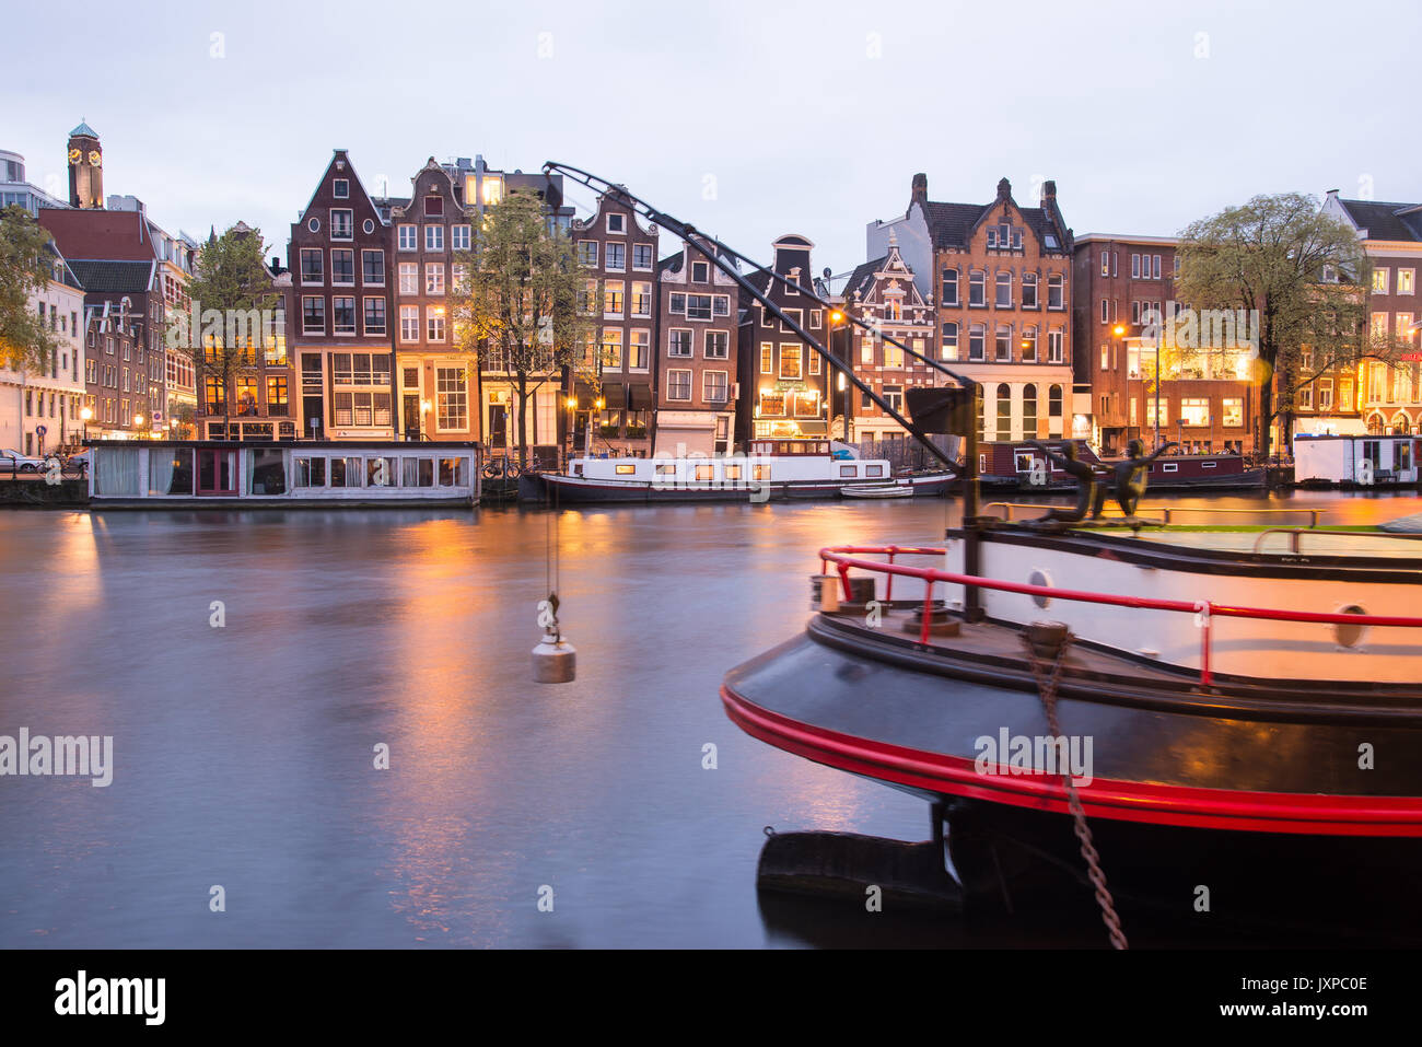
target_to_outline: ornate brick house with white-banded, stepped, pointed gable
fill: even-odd
[[[936,310],[914,283],[913,269],[903,260],[899,239],[889,232],[889,253],[865,262],[849,276],[843,290],[843,309],[849,316],[867,323],[873,330],[849,324],[850,363],[855,374],[890,407],[904,414],[904,391],[913,386],[941,386],[937,371],[893,346],[882,336],[897,339],[910,349],[937,357]],[[845,337],[840,334],[839,337]],[[846,390],[836,376],[836,390],[830,395],[830,410],[845,414],[842,403]],[[850,435],[859,441],[907,440],[907,431],[884,414],[873,400],[859,390],[848,390]],[[843,428],[840,427],[840,432]]]

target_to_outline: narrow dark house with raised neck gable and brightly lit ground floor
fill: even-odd
[[[811,252],[815,245],[798,233],[775,240],[772,270],[791,283],[813,290]],[[778,309],[816,339],[826,341],[825,309],[786,287],[764,269],[748,280]],[[829,435],[828,367],[819,353],[744,290],[739,297],[739,381],[735,440],[745,445],[764,437]]]

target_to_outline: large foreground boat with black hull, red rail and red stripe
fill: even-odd
[[[930,801],[970,906],[1102,873],[1103,918],[1206,883],[1216,922],[1422,935],[1422,535],[1132,524],[820,549],[835,599],[725,710]]]

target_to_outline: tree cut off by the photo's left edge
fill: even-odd
[[[0,367],[48,371],[60,340],[34,307],[57,262],[53,238],[24,208],[0,212]]]

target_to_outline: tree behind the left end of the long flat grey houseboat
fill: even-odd
[[[209,377],[220,380],[218,403],[223,421],[229,415],[233,380],[256,368],[257,350],[266,349],[266,340],[276,331],[272,309],[282,296],[272,285],[264,253],[262,230],[242,222],[222,236],[209,235],[188,285],[192,314],[179,314],[168,329],[168,349],[193,354],[201,398],[206,397]],[[201,330],[192,330],[192,316]]]

